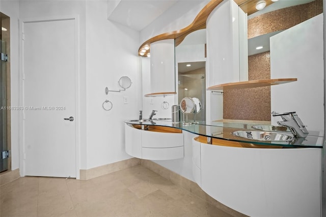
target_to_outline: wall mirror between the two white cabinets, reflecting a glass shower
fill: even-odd
[[[177,44],[177,43],[176,43]],[[189,114],[189,120],[206,120],[206,61],[205,61],[206,30],[197,30],[188,34],[175,47],[177,69],[178,102],[184,97],[198,98],[203,109],[196,114]]]

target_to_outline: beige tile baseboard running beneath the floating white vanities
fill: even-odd
[[[203,199],[204,201],[206,201],[207,203],[225,211],[226,213],[232,215],[232,216],[247,216],[244,215],[234,209],[231,209],[230,207],[220,203],[219,201],[215,200],[214,198],[210,197],[208,194],[206,194],[201,187],[198,186],[198,184],[196,182],[193,182],[189,179],[184,178],[183,176],[165,168],[162,167],[158,164],[156,164],[155,162],[151,161],[151,160],[144,160],[141,159],[140,160],[140,164],[159,174],[160,176],[170,180],[171,182],[173,182],[174,184],[186,189],[187,191],[193,193],[194,195],[196,195],[197,197]]]

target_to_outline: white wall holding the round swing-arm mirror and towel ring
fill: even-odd
[[[107,20],[106,4],[86,3],[87,169],[131,158],[125,152],[123,120],[137,118],[140,108],[139,32]],[[120,89],[121,76],[131,78],[131,87],[105,95],[105,87]],[[105,99],[113,103],[111,111],[103,110]]]

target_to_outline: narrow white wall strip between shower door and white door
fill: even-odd
[[[10,17],[10,57],[11,68],[11,106],[19,105],[19,3],[18,1],[1,1],[0,12]],[[19,112],[11,111],[11,169],[19,168]]]

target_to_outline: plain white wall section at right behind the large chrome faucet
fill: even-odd
[[[270,98],[271,111],[296,112],[308,130],[323,131],[322,24],[319,14],[270,38],[270,78],[297,78],[271,87]]]

